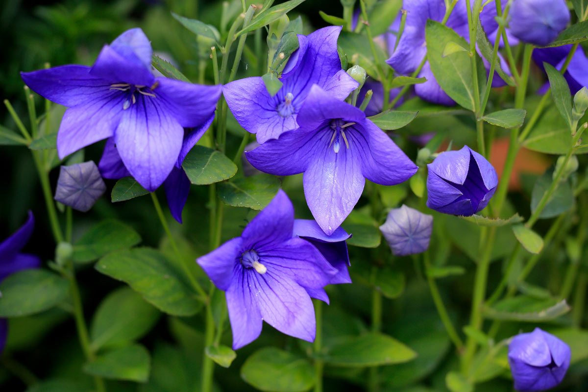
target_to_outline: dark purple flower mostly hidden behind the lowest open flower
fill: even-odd
[[[295,219],[294,220],[294,236],[300,237],[311,244],[325,256],[325,259],[338,271],[333,275],[329,284],[352,283],[349,276],[348,266],[349,252],[347,250],[347,243],[351,237],[343,227],[338,227],[333,234],[328,236],[320,229],[318,223],[313,219]],[[311,297],[329,303],[329,297],[324,289],[306,289],[306,292]]]

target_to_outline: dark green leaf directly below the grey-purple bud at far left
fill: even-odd
[[[72,260],[91,262],[115,250],[126,249],[141,242],[141,236],[125,223],[106,219],[93,226],[74,243]]]

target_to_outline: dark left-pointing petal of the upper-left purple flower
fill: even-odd
[[[21,78],[32,91],[64,106],[83,105],[101,99],[111,83],[89,73],[90,67],[62,65],[33,72],[21,72]]]

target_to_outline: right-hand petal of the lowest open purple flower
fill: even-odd
[[[258,254],[268,272],[280,279],[288,277],[309,289],[325,287],[338,272],[315,246],[301,238],[292,238],[272,249],[260,249]]]

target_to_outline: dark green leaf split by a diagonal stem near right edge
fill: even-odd
[[[533,192],[531,193],[531,212],[535,212],[539,205],[539,201],[551,186],[553,182],[552,176],[553,167],[550,167],[537,179],[537,182],[533,186]],[[543,208],[543,211],[539,214],[539,217],[541,219],[547,219],[561,215],[562,213],[571,210],[573,205],[574,192],[570,182],[560,182]]]

